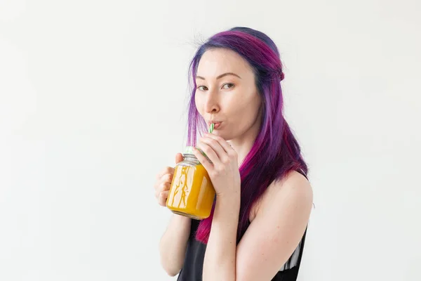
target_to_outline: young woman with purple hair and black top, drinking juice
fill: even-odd
[[[173,214],[161,237],[162,266],[182,281],[296,280],[313,193],[283,117],[278,48],[262,32],[235,27],[210,37],[190,66],[187,145],[210,159],[194,152],[216,200],[202,221]],[[204,133],[210,123],[213,133]],[[166,167],[157,176],[162,206],[173,173]]]

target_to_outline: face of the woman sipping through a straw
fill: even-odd
[[[216,48],[203,53],[196,76],[196,107],[213,133],[225,140],[260,129],[262,99],[248,62],[234,51]]]

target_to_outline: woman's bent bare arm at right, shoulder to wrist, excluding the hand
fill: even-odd
[[[203,281],[269,281],[293,254],[305,233],[312,209],[312,188],[293,172],[270,187],[236,247],[238,210],[234,202],[217,199],[203,264]]]

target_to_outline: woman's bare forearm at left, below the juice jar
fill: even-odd
[[[191,222],[191,218],[173,214],[161,237],[159,242],[161,265],[168,275],[175,276],[180,273],[184,264]]]

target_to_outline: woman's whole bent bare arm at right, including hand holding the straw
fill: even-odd
[[[307,179],[291,172],[272,183],[253,222],[236,246],[240,180],[236,152],[218,136],[201,138],[194,150],[205,166],[217,194],[205,259],[203,281],[269,281],[298,246],[312,209],[313,193]],[[234,161],[235,160],[235,161]],[[268,189],[269,189],[268,188]]]

